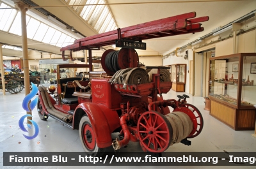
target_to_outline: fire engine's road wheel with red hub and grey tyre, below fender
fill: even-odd
[[[79,136],[84,151],[90,156],[102,156],[104,149],[99,148],[96,143],[95,132],[88,116],[84,115],[79,123]]]

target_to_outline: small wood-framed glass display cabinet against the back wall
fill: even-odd
[[[172,89],[176,92],[184,92],[186,84],[186,64],[171,65]]]

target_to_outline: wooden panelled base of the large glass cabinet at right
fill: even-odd
[[[210,115],[234,130],[254,130],[255,128],[255,109],[237,109],[211,99]]]

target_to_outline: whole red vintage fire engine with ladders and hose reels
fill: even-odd
[[[198,22],[209,17],[195,17],[191,12],[154,20],[82,38],[61,48],[63,60],[65,50],[70,50],[72,60],[72,51],[88,50],[89,64],[58,65],[55,99],[44,86],[38,87],[40,118],[45,121],[50,116],[79,129],[84,151],[93,156],[111,145],[120,149],[130,141],[140,142],[143,151],[153,153],[166,151],[173,143],[190,145],[187,138],[198,136],[204,126],[200,111],[186,103],[186,95],[178,100],[163,99],[162,94],[172,87],[168,67],[140,67],[134,48],[145,49],[142,40],[150,38],[204,31]],[[92,71],[92,50],[113,44],[121,50],[106,50],[101,57],[104,71]],[[90,73],[78,77],[77,69],[83,72],[84,68]],[[115,132],[120,135],[113,139],[111,133]]]

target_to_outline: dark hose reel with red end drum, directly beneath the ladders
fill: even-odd
[[[121,50],[106,50],[101,57],[101,65],[109,75],[114,75],[116,71],[138,66],[139,57],[136,50],[132,48],[122,48]]]

